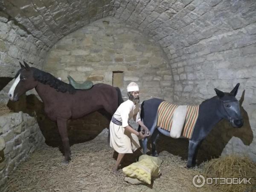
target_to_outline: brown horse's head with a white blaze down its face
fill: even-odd
[[[19,100],[19,97],[26,93],[26,91],[36,87],[38,81],[33,77],[32,67],[23,61],[24,65],[20,63],[21,69],[15,75],[15,81],[9,90],[8,97],[11,101]]]

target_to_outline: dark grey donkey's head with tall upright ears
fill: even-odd
[[[230,93],[224,93],[221,90],[214,89],[218,96],[218,115],[227,119],[235,128],[241,128],[244,124],[239,101],[236,99],[239,85],[239,83],[236,84]]]

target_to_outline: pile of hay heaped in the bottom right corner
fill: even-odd
[[[218,178],[245,178],[250,179],[250,184],[217,184],[215,187],[220,192],[255,192],[256,191],[256,163],[249,157],[230,155],[210,160],[204,163],[203,175]]]

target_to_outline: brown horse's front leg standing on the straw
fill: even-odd
[[[57,119],[57,125],[64,147],[63,163],[67,164],[71,160],[70,144],[67,136],[67,119]]]

